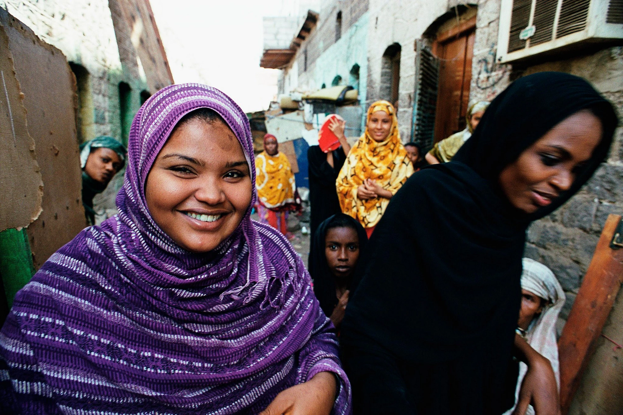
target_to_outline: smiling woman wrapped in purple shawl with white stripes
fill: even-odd
[[[239,106],[168,86],[136,114],[128,147],[119,214],[17,293],[0,332],[0,413],[350,413],[309,274],[250,218]]]

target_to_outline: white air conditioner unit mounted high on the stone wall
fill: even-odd
[[[623,44],[623,0],[502,0],[498,62]]]

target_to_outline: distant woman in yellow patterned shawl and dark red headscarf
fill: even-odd
[[[288,157],[278,151],[277,138],[272,134],[264,136],[264,151],[255,157],[255,172],[260,221],[286,235],[288,210],[295,210],[300,201]]]

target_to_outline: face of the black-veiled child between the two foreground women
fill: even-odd
[[[325,236],[326,263],[336,277],[349,277],[359,259],[359,238],[353,228],[331,228]]]

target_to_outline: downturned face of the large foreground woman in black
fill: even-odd
[[[590,111],[569,116],[502,170],[500,187],[513,206],[525,213],[548,206],[569,190],[601,135],[601,121]]]

